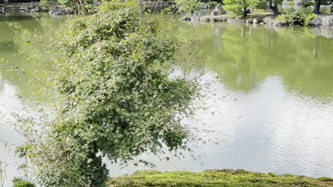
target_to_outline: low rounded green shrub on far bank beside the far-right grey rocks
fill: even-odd
[[[292,12],[290,14],[280,15],[275,20],[287,23],[289,25],[308,26],[310,21],[316,17],[309,12]]]

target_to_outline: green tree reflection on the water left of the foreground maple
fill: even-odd
[[[53,28],[58,28],[58,26],[65,21],[65,17],[51,18],[49,16],[41,16],[40,21],[45,24],[44,29],[46,29],[46,31],[48,29],[53,30]],[[4,19],[3,17],[4,15],[0,15],[0,19]],[[13,16],[9,22],[17,22],[22,26],[22,28],[26,28],[32,32],[26,35],[20,33],[21,35],[19,35],[19,38],[21,38],[22,41],[31,41],[35,44],[38,44],[39,42],[41,44],[45,43],[42,40],[38,41],[37,37],[33,37],[33,32],[42,30],[40,23],[35,21],[31,16],[30,20],[28,20],[27,17],[28,16],[26,15],[19,14],[17,16]],[[51,27],[46,25],[51,25]],[[3,81],[8,81],[10,84],[15,85],[19,88],[20,93],[24,94],[24,96],[35,97],[33,96],[33,92],[38,91],[40,89],[38,86],[41,87],[42,85],[30,84],[28,82],[33,81],[34,78],[43,80],[43,73],[50,70],[49,64],[42,62],[43,59],[40,59],[40,53],[36,50],[28,50],[28,46],[23,46],[21,44],[22,41],[19,42],[12,39],[12,30],[8,27],[6,22],[0,21],[0,33],[0,59],[6,59],[6,61],[1,64],[3,69],[0,69]],[[22,55],[15,55],[15,53],[18,53],[18,50],[24,50],[25,53]],[[27,60],[28,57],[33,58],[31,58],[31,60]],[[36,60],[36,62],[33,62],[33,60]],[[17,71],[4,70],[8,68],[16,69]],[[24,69],[24,73],[19,71],[20,69]]]

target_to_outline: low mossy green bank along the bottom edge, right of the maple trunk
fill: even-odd
[[[211,170],[194,172],[136,172],[133,175],[113,178],[110,187],[222,187],[222,186],[333,186],[333,179],[299,177],[296,175],[264,174],[246,170]]]

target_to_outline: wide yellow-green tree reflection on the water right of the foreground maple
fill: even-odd
[[[198,27],[205,33],[216,32],[211,26]],[[300,94],[333,95],[332,39],[316,37],[309,28],[222,24],[219,29],[221,36],[211,34],[185,50],[204,48],[207,52],[196,64],[214,66],[213,71],[231,89],[252,91],[266,78],[279,76],[288,89]]]

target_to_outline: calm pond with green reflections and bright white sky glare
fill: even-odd
[[[13,55],[19,46],[6,22],[30,30],[39,24],[30,15],[0,15],[0,59],[34,69]],[[242,168],[333,177],[333,30],[178,22],[175,32],[198,36],[183,47],[185,62],[179,63],[207,69],[202,81],[212,82],[206,103],[214,107],[197,112],[200,120],[192,124],[203,129],[198,135],[206,143],[194,143],[184,159],[160,161],[169,155],[150,154],[144,159],[162,171]],[[32,91],[22,74],[0,69],[0,161],[6,161],[7,185],[22,176],[14,150],[24,139],[3,114],[25,112],[35,101],[21,94]],[[108,167],[111,176],[149,169]]]

